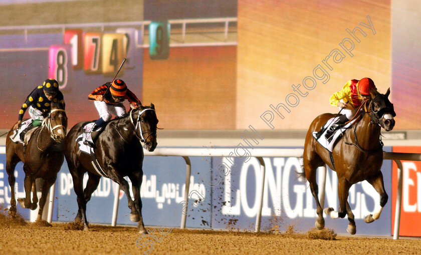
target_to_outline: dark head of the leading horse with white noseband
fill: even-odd
[[[393,104],[390,103],[388,96],[390,88],[387,89],[386,94],[376,93],[371,100],[371,123],[379,124],[384,130],[390,131],[393,129],[395,121],[393,119],[396,113],[393,110]]]

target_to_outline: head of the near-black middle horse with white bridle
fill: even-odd
[[[151,103],[149,107],[140,106],[130,112],[135,120],[135,132],[137,138],[145,144],[145,149],[153,151],[158,143],[156,142],[156,129],[158,119],[156,118],[155,106]]]

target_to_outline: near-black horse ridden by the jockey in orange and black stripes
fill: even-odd
[[[88,230],[86,219],[86,203],[99,184],[101,175],[92,165],[90,155],[81,152],[76,138],[83,132],[83,126],[88,122],[76,124],[66,136],[64,151],[70,174],[77,195],[79,210],[75,221],[82,220],[84,230]],[[138,222],[140,233],[147,233],[142,219],[142,201],[140,199],[140,185],[143,177],[143,148],[148,151],[156,148],[156,125],[158,119],[155,106],[140,106],[123,117],[110,121],[96,140],[95,155],[106,177],[118,183],[126,193],[128,205],[131,209],[130,220]],[[88,172],[88,182],[83,190],[83,176]],[[128,176],[132,182],[134,201],[129,193],[129,184],[124,179]]]

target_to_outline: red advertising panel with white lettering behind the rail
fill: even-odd
[[[421,153],[420,146],[395,146],[393,152]],[[392,233],[397,191],[397,165],[392,165]],[[402,204],[399,235],[421,236],[421,161],[402,160]]]

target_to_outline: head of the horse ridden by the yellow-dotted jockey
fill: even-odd
[[[45,119],[51,138],[59,143],[63,142],[67,132],[67,115],[64,108],[63,104],[52,102],[50,114]]]

